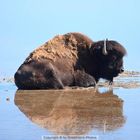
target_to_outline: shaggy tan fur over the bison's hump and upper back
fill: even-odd
[[[88,47],[92,40],[81,33],[67,33],[57,35],[36,50],[34,50],[25,62],[40,60],[42,58],[56,61],[60,58],[77,59],[78,47]]]

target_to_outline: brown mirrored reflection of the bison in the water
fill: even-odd
[[[34,123],[61,135],[83,135],[94,129],[113,131],[125,122],[123,101],[112,91],[20,91],[15,104]]]

